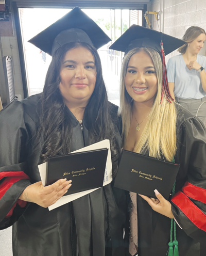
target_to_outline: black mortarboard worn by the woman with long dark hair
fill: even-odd
[[[111,39],[105,32],[79,7],[75,7],[29,40],[30,43],[49,55],[53,55],[66,43],[84,42],[98,49],[109,41]]]

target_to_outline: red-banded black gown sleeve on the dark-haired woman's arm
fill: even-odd
[[[37,131],[41,94],[13,101],[0,111],[0,229],[11,226],[27,202],[19,199],[31,184],[28,176],[28,145]]]

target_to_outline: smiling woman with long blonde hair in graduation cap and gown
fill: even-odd
[[[168,43],[165,54],[184,44],[132,25],[110,46],[125,52],[119,108],[123,148],[180,165],[168,200],[157,189],[154,198],[129,193],[126,255],[200,256],[206,239],[206,130],[171,98],[161,40]]]

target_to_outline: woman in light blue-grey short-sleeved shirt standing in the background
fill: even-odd
[[[206,125],[206,57],[198,54],[205,37],[204,29],[188,28],[181,54],[168,60],[167,75],[171,96]]]

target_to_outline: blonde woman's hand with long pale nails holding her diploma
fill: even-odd
[[[148,204],[151,206],[152,210],[156,211],[157,213],[160,213],[166,217],[169,217],[170,219],[174,219],[173,212],[171,212],[171,204],[169,201],[167,201],[157,189],[154,190],[155,195],[158,199],[155,198],[149,198],[143,195],[140,195],[145,201],[148,202]]]

